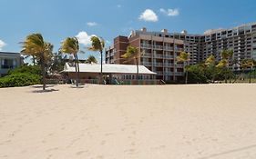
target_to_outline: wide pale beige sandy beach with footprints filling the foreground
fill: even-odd
[[[0,89],[1,159],[255,159],[256,84]]]

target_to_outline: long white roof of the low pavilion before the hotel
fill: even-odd
[[[100,73],[99,64],[79,64],[80,73]],[[64,66],[64,73],[76,72],[75,65],[68,63]],[[137,74],[137,65],[102,65],[103,74]],[[156,75],[156,73],[148,70],[144,65],[138,65],[138,74],[140,75]]]

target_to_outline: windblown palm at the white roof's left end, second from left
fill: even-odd
[[[78,62],[78,56],[77,56],[77,53],[79,52],[79,43],[78,43],[77,37],[67,37],[61,43],[60,51],[62,53],[66,53],[66,54],[74,56],[74,58],[75,58],[76,76],[77,76],[76,84],[78,86],[80,69],[79,69],[79,62]]]

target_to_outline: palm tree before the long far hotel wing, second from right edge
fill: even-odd
[[[225,72],[225,83],[227,84],[228,83],[227,73],[228,73],[229,64],[230,64],[230,58],[233,55],[233,51],[224,49],[224,50],[221,51],[220,55],[221,55],[221,60],[220,60],[219,65],[217,65],[217,67],[220,67],[224,70],[224,72]]]

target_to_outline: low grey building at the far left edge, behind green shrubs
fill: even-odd
[[[23,64],[23,57],[20,53],[0,52],[0,77],[7,75],[10,69]]]

